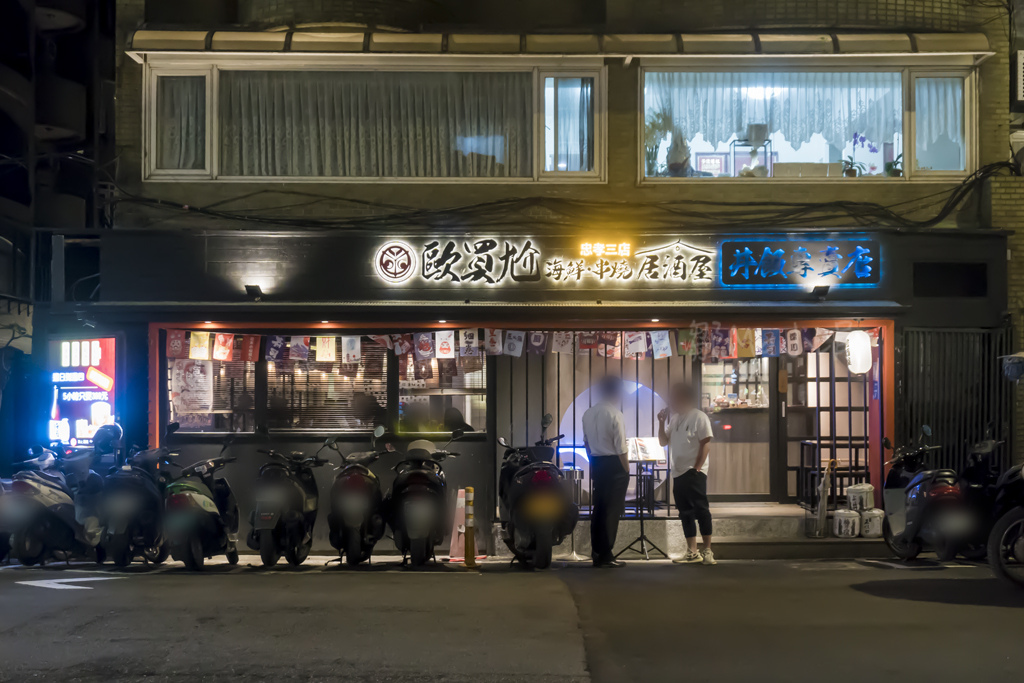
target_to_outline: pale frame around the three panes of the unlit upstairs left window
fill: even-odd
[[[161,182],[215,182],[244,183],[471,183],[471,184],[530,184],[530,183],[604,183],[606,177],[606,102],[607,67],[601,55],[582,57],[522,58],[445,56],[411,58],[397,55],[354,55],[339,58],[337,55],[317,57],[301,55],[216,55],[209,53],[175,54],[166,58],[147,55],[143,68],[142,102],[142,180]],[[221,71],[339,71],[339,72],[483,72],[529,73],[532,79],[532,168],[529,176],[521,177],[408,177],[408,176],[297,176],[260,175],[228,176],[220,174],[219,150],[219,73]],[[206,166],[204,169],[156,168],[156,96],[157,81],[161,76],[206,76]],[[553,76],[594,79],[594,170],[588,172],[544,170],[544,79]]]

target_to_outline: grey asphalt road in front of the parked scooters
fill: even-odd
[[[202,574],[174,564],[0,567],[0,681],[862,683],[1024,674],[1024,591],[985,567],[723,561],[417,572],[310,558],[268,571],[248,559]],[[46,583],[54,580],[73,581]]]

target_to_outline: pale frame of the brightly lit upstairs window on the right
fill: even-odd
[[[907,55],[912,57],[915,55]],[[889,57],[880,58],[860,58],[860,59],[842,59],[837,58],[831,60],[831,66],[828,63],[822,66],[820,62],[816,62],[814,66],[807,63],[806,59],[793,59],[793,58],[782,58],[782,59],[772,59],[768,57],[743,57],[743,58],[732,58],[732,59],[690,59],[690,60],[680,60],[680,59],[648,59],[643,60],[639,69],[639,77],[637,79],[637,97],[638,97],[638,111],[637,111],[637,136],[636,136],[636,151],[637,151],[637,184],[638,185],[656,185],[656,184],[676,184],[676,183],[729,183],[729,182],[754,182],[754,183],[795,183],[795,184],[819,184],[819,183],[848,183],[848,182],[861,182],[861,183],[872,183],[872,182],[912,182],[912,181],[953,181],[961,180],[977,169],[977,159],[978,159],[978,129],[977,129],[977,69],[975,66],[968,66],[964,63],[907,63],[911,59],[906,59],[903,61],[897,61]],[[901,74],[902,82],[902,97],[903,97],[903,148],[901,150],[903,155],[902,170],[903,174],[899,177],[891,177],[885,174],[880,174],[877,176],[857,176],[856,178],[847,177],[813,177],[813,178],[775,178],[775,177],[750,177],[750,178],[739,178],[733,176],[727,177],[685,177],[685,178],[672,178],[672,177],[647,177],[646,175],[646,165],[645,165],[645,155],[644,155],[644,137],[646,132],[646,98],[644,93],[644,85],[647,79],[648,72],[693,72],[693,73],[707,73],[707,72],[749,72],[749,73],[773,73],[780,71],[788,72],[865,72],[865,71],[889,71],[889,72],[899,72]],[[913,85],[914,80],[919,77],[956,77],[964,79],[964,126],[965,126],[965,136],[964,141],[967,145],[965,159],[967,162],[967,169],[964,171],[918,171],[914,172],[913,165],[915,163],[915,111],[912,109],[913,101]],[[912,160],[912,161],[908,161]]]

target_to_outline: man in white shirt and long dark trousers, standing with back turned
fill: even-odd
[[[618,405],[623,382],[607,376],[598,382],[599,400],[583,414],[584,445],[590,460],[594,500],[590,519],[591,556],[596,567],[617,567],[612,548],[618,531],[618,518],[626,510],[626,489],[630,469],[626,444],[626,421]]]

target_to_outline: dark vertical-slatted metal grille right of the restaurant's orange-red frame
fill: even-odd
[[[1000,466],[1010,463],[1013,384],[1000,372],[998,356],[1012,353],[1009,328],[903,332],[897,411],[897,436],[907,443],[922,425],[932,428],[932,467],[959,471],[971,446],[987,438],[1005,441]]]

